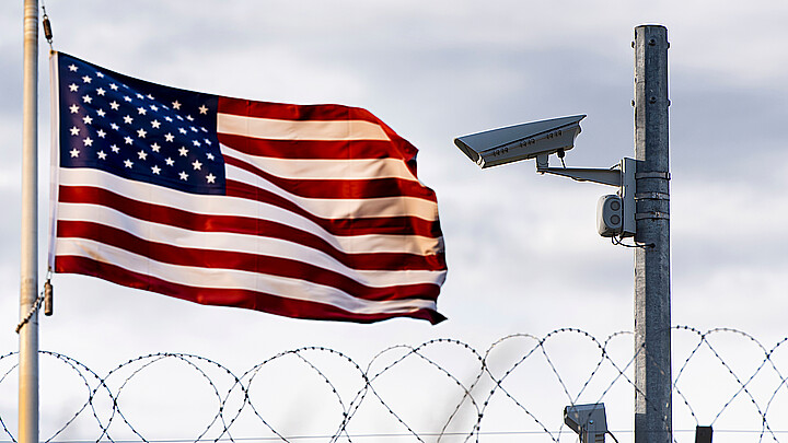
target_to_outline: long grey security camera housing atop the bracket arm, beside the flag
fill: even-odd
[[[470,136],[454,144],[482,168],[568,151],[575,147],[584,115],[532,121]]]

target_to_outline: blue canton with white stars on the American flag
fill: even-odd
[[[70,60],[60,70],[61,167],[94,167],[192,194],[224,194],[217,97]],[[68,116],[68,117],[67,117]]]

